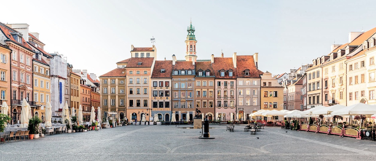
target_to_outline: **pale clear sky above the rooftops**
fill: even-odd
[[[158,60],[184,59],[186,29],[196,29],[197,59],[259,53],[259,69],[297,69],[344,44],[349,32],[376,27],[374,1],[4,1],[2,23],[27,23],[45,51],[98,76],[130,57],[130,45],[151,47]]]

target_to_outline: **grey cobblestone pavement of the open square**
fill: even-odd
[[[50,160],[365,160],[376,157],[376,142],[338,135],[265,127],[256,135],[245,125],[210,125],[199,139],[191,125],[128,125],[0,144],[0,161]],[[286,132],[287,131],[287,132]],[[256,137],[259,137],[257,139]]]

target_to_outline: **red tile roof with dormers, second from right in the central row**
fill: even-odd
[[[216,78],[223,78],[223,79],[236,79],[237,78],[237,72],[236,69],[233,68],[234,65],[232,63],[232,57],[215,57],[214,58],[214,63],[212,63],[213,69],[214,69],[214,74]],[[220,76],[219,71],[221,69],[225,70],[224,77]],[[232,77],[228,75],[228,70],[231,69],[233,71]]]

